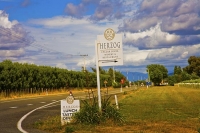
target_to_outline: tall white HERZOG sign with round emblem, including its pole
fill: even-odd
[[[99,66],[123,65],[122,35],[108,28],[95,41],[98,103],[101,109]]]

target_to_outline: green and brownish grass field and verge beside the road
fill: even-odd
[[[200,89],[177,86],[159,86],[149,89],[140,88],[119,96],[120,112],[125,123],[112,122],[103,125],[74,125],[66,127],[77,133],[198,133],[200,132]],[[53,122],[52,122],[53,121]],[[60,117],[50,117],[36,126],[48,131],[54,123],[59,125]],[[57,123],[57,124],[55,124]],[[64,132],[63,127],[55,132]],[[49,130],[49,131],[50,131]]]

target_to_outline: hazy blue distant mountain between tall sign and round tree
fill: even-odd
[[[129,81],[137,81],[137,80],[146,80],[148,79],[147,73],[140,72],[121,72],[127,80]]]

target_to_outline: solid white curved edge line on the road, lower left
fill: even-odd
[[[46,108],[47,106],[51,105],[51,104],[54,104],[56,102],[60,102],[60,101],[55,101],[55,102],[52,102],[52,103],[49,103],[49,104],[46,104],[44,106],[41,106],[41,107],[38,107],[30,112],[28,112],[27,114],[25,114],[18,122],[17,122],[17,128],[20,132],[22,133],[28,133],[27,131],[25,131],[23,128],[22,128],[22,121],[28,116],[30,115],[31,113],[33,113],[34,111],[38,110],[38,109],[42,109],[42,108]]]

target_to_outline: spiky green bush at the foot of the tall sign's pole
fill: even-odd
[[[100,124],[107,120],[116,123],[123,122],[123,117],[119,110],[111,105],[109,98],[102,99],[101,110],[99,110],[98,100],[96,97],[89,101],[83,100],[83,107],[74,115],[75,123],[83,124]]]

